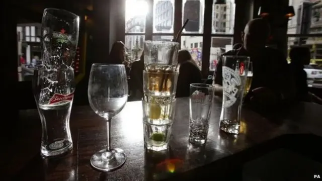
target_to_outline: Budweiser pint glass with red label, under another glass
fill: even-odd
[[[33,92],[42,124],[43,156],[56,156],[72,149],[69,116],[74,89],[72,68],[34,71]]]

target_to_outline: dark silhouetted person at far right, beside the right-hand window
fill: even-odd
[[[310,50],[307,47],[293,47],[289,56],[291,58],[291,73],[295,79],[296,99],[298,101],[308,101],[307,74],[304,70],[304,65],[310,63]]]

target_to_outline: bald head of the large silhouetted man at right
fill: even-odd
[[[253,19],[244,29],[244,47],[248,51],[264,48],[270,36],[270,25],[262,18]]]

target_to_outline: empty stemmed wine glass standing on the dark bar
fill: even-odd
[[[91,165],[99,171],[111,171],[126,160],[120,148],[111,148],[111,120],[124,108],[128,97],[124,65],[94,63],[91,68],[88,98],[93,111],[107,122],[107,148],[95,153]]]

